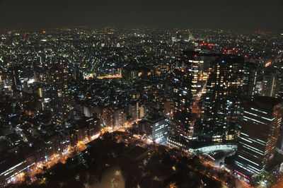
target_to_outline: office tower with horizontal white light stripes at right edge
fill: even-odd
[[[236,172],[251,177],[265,172],[274,158],[283,114],[283,101],[277,98],[256,97],[243,102],[241,134],[235,164]]]

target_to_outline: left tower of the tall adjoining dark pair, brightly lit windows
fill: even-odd
[[[175,71],[173,122],[183,128],[183,134],[193,139],[199,101],[207,82],[207,71],[199,52],[188,50],[178,57],[180,67]]]

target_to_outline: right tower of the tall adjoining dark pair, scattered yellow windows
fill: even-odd
[[[212,62],[196,131],[201,141],[221,143],[235,139],[242,86],[243,58],[223,56]]]

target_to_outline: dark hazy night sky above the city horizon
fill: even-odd
[[[0,28],[283,30],[283,0],[0,0]]]

